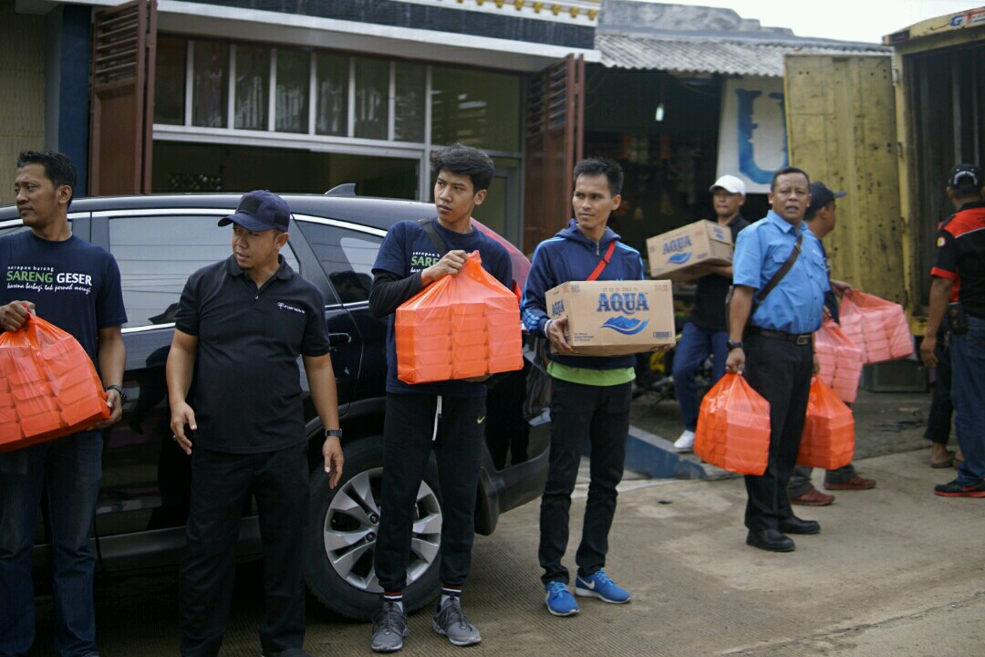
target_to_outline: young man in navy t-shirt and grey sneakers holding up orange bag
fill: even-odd
[[[398,379],[394,313],[431,283],[457,275],[473,251],[479,251],[483,267],[504,286],[509,286],[512,273],[506,249],[472,226],[472,210],[485,200],[493,180],[493,161],[481,151],[456,144],[433,153],[431,165],[437,174],[437,217],[430,220],[431,227],[447,253],[438,252],[435,240],[420,223],[401,222],[390,229],[380,246],[369,292],[370,312],[388,316],[382,514],[374,559],[384,593],[373,624],[371,647],[376,652],[400,650],[408,634],[403,589],[414,506],[432,449],[444,513],[441,598],[432,626],[455,645],[482,640],[462,613],[459,598],[469,574],[475,536],[486,386],[474,379],[417,385]]]

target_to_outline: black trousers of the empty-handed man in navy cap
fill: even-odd
[[[307,446],[262,454],[192,451],[188,546],[181,559],[181,654],[219,654],[230,621],[235,543],[243,509],[256,497],[263,543],[264,654],[304,640]]]

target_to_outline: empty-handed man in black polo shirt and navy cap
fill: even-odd
[[[305,654],[308,461],[298,356],[326,427],[322,455],[332,488],[343,456],[324,301],[280,255],[290,217],[276,194],[243,195],[235,214],[219,222],[233,225],[232,255],[191,275],[174,316],[167,357],[171,430],[192,455],[181,563],[185,657],[219,654],[229,623],[235,540],[251,493],[264,552],[263,655]],[[185,401],[193,372],[194,410]]]

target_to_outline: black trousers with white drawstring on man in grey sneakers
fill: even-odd
[[[445,586],[462,586],[472,564],[476,535],[476,493],[482,463],[485,397],[442,397],[434,431],[434,395],[386,395],[383,423],[383,490],[374,565],[380,586],[403,591],[411,559],[418,490],[431,450],[441,490],[441,565]]]

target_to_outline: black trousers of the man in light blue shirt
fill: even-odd
[[[779,521],[793,515],[787,484],[804,431],[814,350],[761,335],[748,335],[745,342],[746,380],[769,402],[769,458],[762,475],[746,475],[746,526],[779,529]]]

